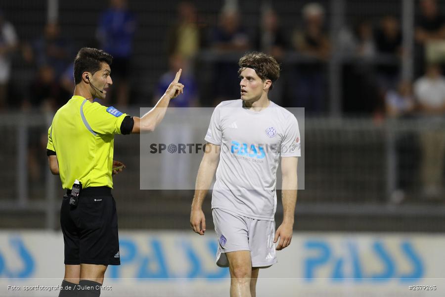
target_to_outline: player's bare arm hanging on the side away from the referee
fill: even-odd
[[[283,177],[281,199],[283,202],[283,223],[275,232],[274,243],[280,239],[276,250],[288,247],[292,240],[294,227],[295,204],[297,202],[297,157],[281,158],[281,174]]]

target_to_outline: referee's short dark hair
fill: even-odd
[[[100,70],[100,63],[111,65],[113,56],[102,49],[82,48],[74,59],[74,84],[82,81],[82,73],[85,71],[94,74]]]

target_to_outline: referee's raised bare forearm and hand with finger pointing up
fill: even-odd
[[[158,103],[142,117],[133,117],[134,125],[132,133],[153,132],[165,116],[170,100],[176,98],[184,91],[184,85],[179,83],[182,69],[176,73],[176,77],[165,91],[164,95],[159,99]]]

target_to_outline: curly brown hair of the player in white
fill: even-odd
[[[280,65],[274,57],[264,52],[248,52],[239,59],[238,65],[238,75],[244,68],[252,68],[263,81],[270,79],[272,84],[269,90],[272,90],[273,82],[280,77]]]

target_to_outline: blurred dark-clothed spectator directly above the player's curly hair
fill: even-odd
[[[263,12],[260,28],[255,38],[255,48],[281,60],[288,47],[286,36],[279,25],[275,10],[268,8]]]

